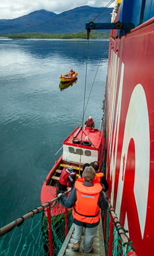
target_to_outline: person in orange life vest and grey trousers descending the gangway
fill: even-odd
[[[103,194],[102,186],[93,183],[95,170],[87,166],[83,172],[83,182],[76,181],[69,197],[62,193],[58,195],[63,207],[72,208],[74,230],[74,245],[72,250],[79,251],[83,228],[86,228],[83,251],[93,251],[93,238],[99,225],[100,210],[107,210],[108,197]]]

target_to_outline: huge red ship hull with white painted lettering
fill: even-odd
[[[153,255],[154,18],[111,32],[107,76],[109,197],[137,255]]]

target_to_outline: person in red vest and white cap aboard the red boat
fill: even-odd
[[[68,166],[68,168],[63,168],[61,172],[61,176],[59,179],[59,191],[66,191],[67,187],[73,187],[75,178],[76,177],[76,172],[74,172],[72,166]]]

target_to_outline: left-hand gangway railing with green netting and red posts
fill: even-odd
[[[0,255],[58,255],[72,222],[58,197],[0,229]]]

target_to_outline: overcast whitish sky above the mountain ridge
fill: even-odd
[[[105,7],[110,1],[111,0],[0,0],[0,19],[17,18],[41,9],[59,14],[63,13],[63,11],[68,11],[83,5]],[[110,5],[110,7],[114,7],[115,2]]]

